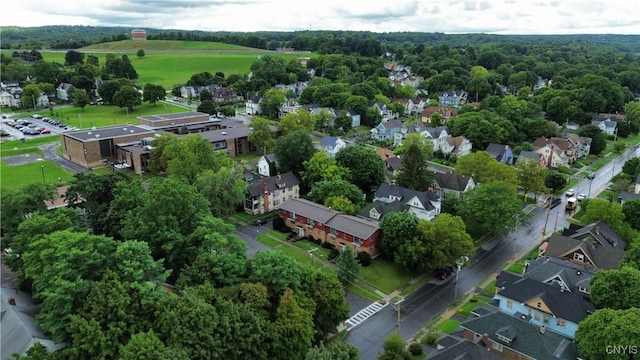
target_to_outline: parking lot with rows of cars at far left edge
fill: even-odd
[[[75,130],[66,124],[49,117],[32,115],[29,118],[14,119],[12,114],[2,115],[2,129],[14,139],[29,139],[41,135],[60,134],[64,131]]]

